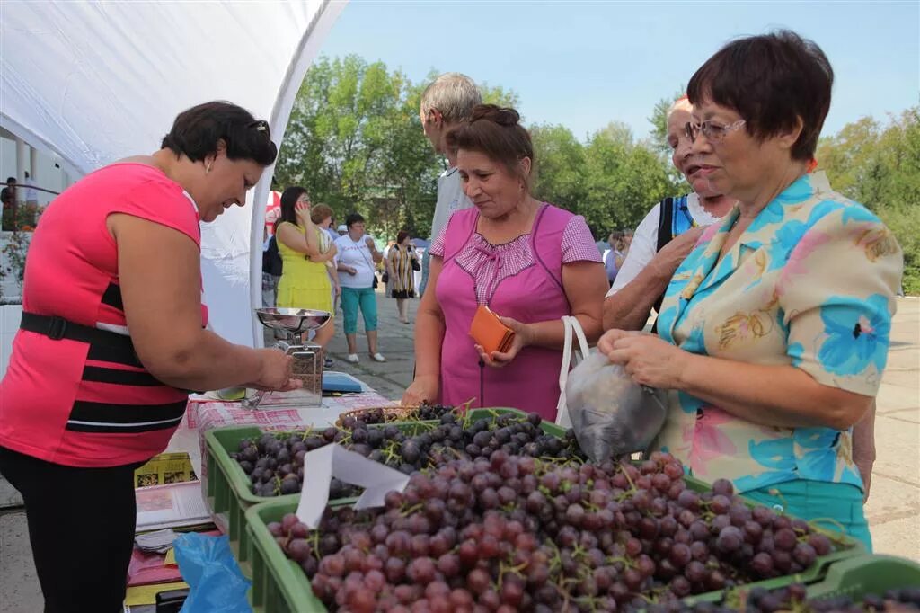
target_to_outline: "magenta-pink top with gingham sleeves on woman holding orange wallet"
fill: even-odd
[[[526,347],[504,368],[479,366],[469,327],[477,305],[525,323],[570,314],[562,266],[601,261],[581,216],[544,204],[530,234],[491,245],[477,231],[477,209],[457,211],[431,254],[443,258],[435,288],[444,315],[441,401],[472,407],[513,407],[556,419],[560,350]]]

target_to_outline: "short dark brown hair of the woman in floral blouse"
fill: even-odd
[[[710,57],[687,85],[696,106],[704,100],[736,110],[745,130],[764,140],[802,121],[793,159],[810,160],[831,108],[834,69],[821,47],[788,29],[733,40]]]

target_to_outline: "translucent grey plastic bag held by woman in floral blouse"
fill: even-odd
[[[645,450],[661,431],[667,407],[663,390],[639,386],[603,353],[569,373],[566,403],[581,450],[594,462]]]

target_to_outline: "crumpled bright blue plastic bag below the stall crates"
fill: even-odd
[[[173,548],[190,587],[180,613],[252,613],[246,599],[250,582],[240,573],[228,538],[190,532],[178,537]]]

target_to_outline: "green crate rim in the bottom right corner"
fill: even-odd
[[[859,556],[832,565],[823,581],[809,585],[808,597],[881,596],[901,587],[920,587],[920,564],[892,556]]]

